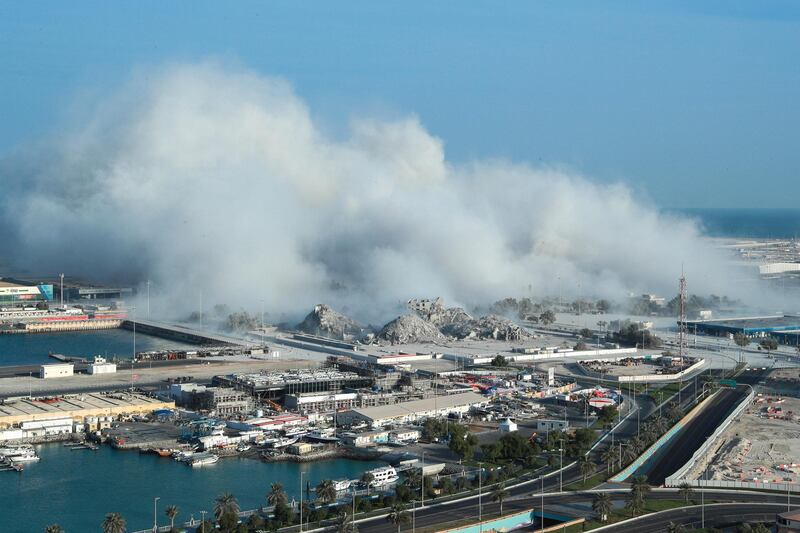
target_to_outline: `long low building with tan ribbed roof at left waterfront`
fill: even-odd
[[[87,393],[55,398],[23,398],[0,403],[0,428],[23,422],[71,418],[83,422],[92,416],[124,416],[173,409],[165,402],[143,394],[127,392]]]

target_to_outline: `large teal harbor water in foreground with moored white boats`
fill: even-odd
[[[58,523],[67,533],[100,531],[106,513],[119,512],[128,531],[153,526],[153,498],[159,497],[158,520],[168,525],[164,509],[176,505],[177,523],[200,512],[213,513],[214,499],[230,492],[243,510],[266,505],[270,485],[282,483],[289,499],[300,497],[300,472],[314,487],[323,479],[357,479],[384,463],[330,460],[314,463],[262,463],[223,458],[214,465],[191,468],[171,458],[101,446],[72,450],[60,443],[36,446],[41,457],[22,473],[0,472],[3,508],[0,531],[44,531]],[[11,511],[11,512],[8,512]]]

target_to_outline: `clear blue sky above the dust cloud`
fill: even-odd
[[[643,4],[0,0],[0,153],[132,69],[216,56],[288,79],[332,128],[415,113],[452,161],[796,206],[800,4]]]

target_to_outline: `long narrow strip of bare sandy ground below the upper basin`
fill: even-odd
[[[37,377],[16,377],[0,379],[0,397],[27,396],[29,392],[53,394],[59,391],[73,392],[78,390],[104,390],[124,386],[167,386],[167,378],[189,376],[193,380],[210,380],[221,374],[260,372],[262,370],[287,370],[291,368],[309,368],[318,366],[318,361],[301,359],[270,360],[219,360],[209,359],[206,364],[175,365],[168,368],[141,368],[122,370],[116,374],[100,374],[89,376],[76,374],[72,377],[39,379]],[[133,375],[133,379],[132,378]]]

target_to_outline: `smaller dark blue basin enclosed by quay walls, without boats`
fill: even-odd
[[[191,349],[193,345],[136,334],[136,351]],[[102,355],[130,359],[133,332],[126,329],[70,331],[59,333],[22,333],[0,335],[0,366],[54,363],[48,354],[59,353],[91,359]]]

